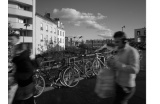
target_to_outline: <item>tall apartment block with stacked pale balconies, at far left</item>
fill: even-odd
[[[20,32],[20,41],[35,55],[36,0],[8,0],[8,22]]]

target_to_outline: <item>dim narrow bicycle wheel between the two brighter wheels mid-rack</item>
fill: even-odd
[[[91,63],[91,61],[87,61],[86,64],[85,64],[85,74],[87,75],[87,77],[93,75],[92,63]]]

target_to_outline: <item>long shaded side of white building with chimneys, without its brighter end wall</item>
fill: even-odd
[[[36,54],[46,51],[49,46],[57,44],[57,25],[49,19],[50,14],[44,16],[36,13]]]

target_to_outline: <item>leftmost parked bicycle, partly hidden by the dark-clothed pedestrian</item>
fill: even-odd
[[[60,62],[56,63],[54,60],[44,61],[41,63],[41,66],[39,67],[39,69],[35,70],[35,74],[33,76],[35,89],[36,89],[34,93],[34,97],[40,96],[43,93],[47,84],[55,88],[61,85],[65,86],[63,81],[61,81],[62,74],[61,74],[61,71],[59,70],[60,65],[61,65]],[[55,70],[53,71],[53,69]]]

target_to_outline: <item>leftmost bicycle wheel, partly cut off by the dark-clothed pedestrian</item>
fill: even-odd
[[[34,76],[33,79],[35,84],[34,97],[36,98],[43,93],[45,88],[45,80],[42,76],[39,76],[39,77]]]

